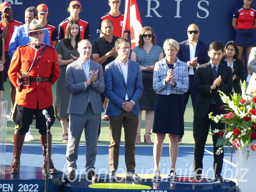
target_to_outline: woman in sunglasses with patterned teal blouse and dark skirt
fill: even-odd
[[[136,135],[136,144],[140,144],[140,128],[142,110],[146,110],[145,116],[145,135],[144,142],[152,144],[150,135],[154,120],[154,106],[156,100],[156,92],[153,89],[153,72],[155,63],[164,58],[164,53],[161,47],[156,45],[156,36],[151,27],[144,27],[140,31],[138,46],[134,47],[131,54],[131,60],[140,64],[143,92],[139,100],[140,115],[139,125]]]

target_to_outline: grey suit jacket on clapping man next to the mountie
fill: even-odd
[[[80,60],[76,60],[68,65],[66,70],[66,88],[70,93],[68,113],[77,115],[84,114],[87,108],[89,95],[92,111],[95,114],[99,114],[104,111],[100,99],[100,93],[102,93],[105,89],[103,70],[99,63],[90,60],[90,71],[93,70],[99,70],[97,81],[94,86],[90,84],[87,88],[85,88],[84,82],[87,79]]]

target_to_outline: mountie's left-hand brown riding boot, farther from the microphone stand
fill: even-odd
[[[13,135],[13,159],[10,173],[20,173],[20,154],[24,143],[25,135]]]

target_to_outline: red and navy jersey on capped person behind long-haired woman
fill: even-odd
[[[65,37],[65,30],[67,28],[68,22],[69,22],[69,20],[67,18],[67,19],[65,19],[64,21],[62,21],[60,23],[59,31],[58,31],[59,32],[59,40],[64,39],[64,37]],[[81,40],[91,38],[88,22],[86,22],[85,20],[82,20],[81,18],[79,18],[78,23],[79,23],[79,28],[80,28]]]

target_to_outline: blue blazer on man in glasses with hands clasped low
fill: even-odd
[[[106,115],[119,116],[122,112],[122,103],[125,102],[127,93],[128,100],[133,100],[135,105],[132,109],[134,115],[140,114],[139,99],[143,91],[142,77],[139,63],[128,59],[127,83],[117,58],[105,68],[104,95],[108,98]]]

